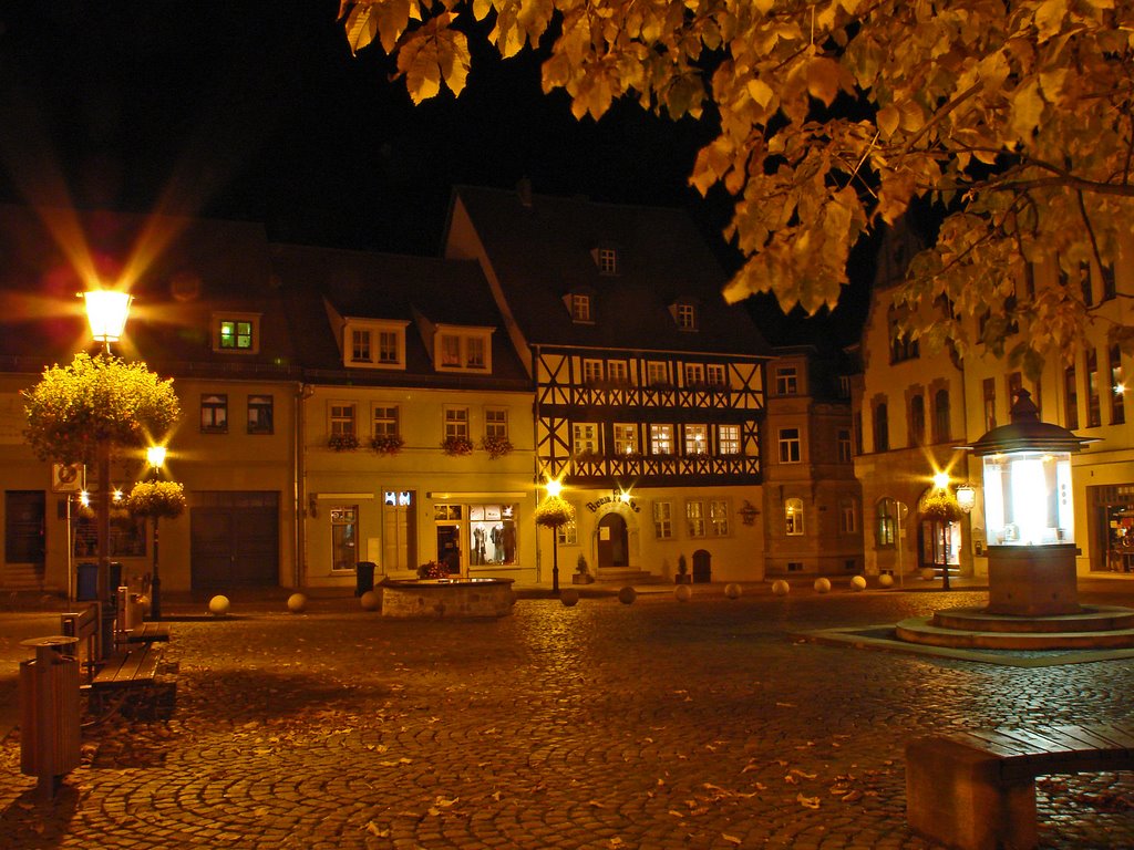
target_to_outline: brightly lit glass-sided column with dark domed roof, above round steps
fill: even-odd
[[[1070,456],[1094,440],[1040,422],[1027,390],[1010,415],[1008,425],[965,447],[983,458],[988,612],[1077,613]]]

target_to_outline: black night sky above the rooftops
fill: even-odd
[[[460,97],[414,107],[380,48],[350,56],[337,11],[337,0],[9,0],[0,199],[263,221],[277,241],[435,254],[454,184],[526,177],[544,194],[684,207],[735,267],[719,236],[726,198],[686,181],[711,121],[632,103],[576,121],[565,94],[541,93],[539,57],[502,61],[476,39]],[[778,308],[752,306],[773,341],[798,338]],[[843,341],[860,314],[836,317]],[[831,326],[813,324],[805,335]]]

